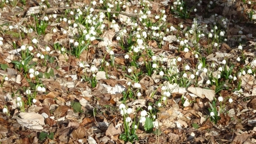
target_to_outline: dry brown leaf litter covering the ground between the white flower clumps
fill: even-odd
[[[177,26],[182,23],[184,26],[188,27],[191,25],[191,20],[177,18],[173,13],[168,12],[169,4],[173,4],[173,1],[159,1],[151,2],[146,1],[150,6],[152,6],[153,15],[157,15],[159,10],[163,7],[166,9],[168,14],[168,22],[172,23],[173,26]],[[126,22],[127,26],[132,26],[132,22],[127,20],[130,19],[136,4],[133,1],[129,7],[126,8],[124,12],[128,14],[119,14],[118,23],[124,24]],[[204,1],[202,4],[211,3],[210,1]],[[255,1],[253,2],[255,4]],[[19,3],[20,6],[21,3]],[[81,4],[81,3],[77,3]],[[162,5],[163,4],[163,5]],[[189,3],[191,4],[191,3]],[[252,29],[255,23],[250,26],[245,25],[246,21],[244,13],[250,13],[253,9],[248,8],[248,4],[243,4],[241,1],[218,1],[223,10],[220,10],[218,6],[209,9],[216,16],[216,19],[225,19],[224,16],[230,17],[228,23],[228,35],[227,42],[221,44],[219,51],[216,49],[212,54],[202,53],[207,61],[214,61],[215,63],[221,64],[222,60],[227,58],[232,59],[230,62],[234,62],[236,68],[233,71],[238,72],[239,68],[243,68],[248,65],[249,59],[252,60],[255,57],[255,33],[249,35],[247,33],[248,42],[244,45],[244,56],[248,56],[243,63],[237,63],[236,58],[239,56],[239,51],[237,51],[235,44],[236,38],[238,37],[240,29],[244,31],[250,31],[246,29]],[[31,17],[28,13],[33,12],[34,14],[39,13],[45,15],[47,9],[43,12],[40,6],[35,6],[35,4],[27,3],[22,6],[17,6],[15,12],[16,20],[14,19],[12,13],[8,12],[8,8],[1,8],[1,24],[3,23],[3,30],[8,29],[7,25],[14,24],[18,27],[23,27],[17,24],[17,18],[20,19],[20,23],[24,24],[26,28],[26,23],[22,23],[25,19],[31,23]],[[76,3],[74,3],[76,5]],[[54,4],[51,6],[54,6]],[[82,4],[82,7],[84,3]],[[164,7],[166,6],[166,7]],[[207,6],[200,6],[198,10],[201,12],[191,13],[191,16],[197,17],[199,23],[211,24],[214,22],[213,17],[204,17],[202,13],[207,11]],[[52,7],[54,10],[61,13],[61,7]],[[73,6],[72,8],[79,8],[78,6]],[[50,10],[50,9],[49,9]],[[240,11],[244,10],[241,14]],[[20,13],[20,11],[23,13]],[[26,13],[26,15],[24,15]],[[218,14],[215,14],[218,13]],[[137,17],[136,15],[132,15]],[[252,19],[255,20],[255,14],[252,13]],[[156,19],[151,15],[149,16],[152,22],[156,22]],[[236,22],[237,17],[241,17],[241,22]],[[120,22],[122,19],[122,22]],[[120,20],[120,21],[119,21]],[[12,22],[12,24],[10,23]],[[33,23],[33,22],[32,22]],[[125,56],[125,51],[122,50],[116,41],[116,35],[120,33],[119,29],[113,28],[113,22],[106,22],[109,28],[102,31],[101,40],[93,40],[92,45],[89,45],[86,51],[81,52],[80,58],[75,58],[70,55],[70,53],[58,51],[55,47],[57,43],[61,47],[67,47],[71,50],[70,45],[68,45],[70,38],[76,36],[76,29],[70,31],[68,29],[67,33],[64,33],[68,25],[65,22],[54,22],[47,26],[47,29],[57,29],[56,32],[52,33],[51,30],[46,30],[44,36],[40,36],[40,41],[36,51],[42,52],[42,54],[48,54],[45,51],[44,45],[48,45],[53,58],[56,60],[54,63],[48,63],[46,66],[40,64],[36,65],[35,69],[40,70],[42,73],[47,73],[44,77],[40,78],[42,84],[44,84],[47,89],[47,93],[36,93],[36,102],[31,106],[20,107],[17,103],[17,95],[22,95],[22,99],[27,102],[28,95],[26,96],[26,88],[32,88],[35,85],[36,79],[31,79],[28,81],[29,76],[24,73],[24,69],[18,69],[12,61],[21,60],[20,52],[21,48],[13,47],[13,42],[17,42],[19,47],[22,44],[30,44],[33,37],[37,34],[35,32],[31,35],[27,35],[23,40],[18,40],[14,34],[10,35],[6,30],[1,30],[1,36],[4,38],[4,45],[0,45],[1,52],[1,82],[5,76],[9,77],[8,81],[2,83],[0,89],[1,101],[0,108],[4,109],[6,106],[11,113],[4,114],[1,113],[1,143],[124,143],[124,141],[118,139],[118,135],[124,132],[124,127],[122,127],[124,121],[118,111],[117,107],[120,105],[122,100],[122,93],[129,90],[127,84],[131,81],[130,77],[125,77],[127,73],[127,59],[123,58]],[[31,25],[33,26],[33,24]],[[84,27],[79,24],[79,27]],[[129,29],[131,29],[129,27]],[[244,28],[243,28],[244,27]],[[10,28],[10,27],[9,27]],[[127,30],[129,30],[127,29]],[[71,29],[72,30],[72,29]],[[12,29],[10,29],[12,31]],[[253,31],[253,30],[252,30]],[[255,32],[255,31],[254,31]],[[13,31],[17,33],[17,31]],[[177,36],[183,36],[184,33],[172,33],[172,35],[166,36],[166,49],[159,49],[156,40],[148,42],[148,45],[152,47],[152,51],[159,55],[159,58],[168,58],[168,63],[166,65],[168,68],[173,68],[173,59],[181,57],[186,59],[187,63],[191,68],[196,69],[196,65],[193,65],[191,60],[193,52],[180,52],[178,51],[179,45],[177,44]],[[240,35],[240,34],[239,34]],[[39,35],[37,35],[39,36]],[[254,36],[254,37],[253,37]],[[127,43],[128,35],[123,36],[124,43]],[[126,42],[125,42],[126,41]],[[1,40],[2,42],[2,40]],[[167,43],[168,42],[168,43]],[[20,44],[19,44],[20,43]],[[193,44],[190,44],[193,45]],[[127,45],[126,45],[127,46]],[[195,45],[193,45],[195,46]],[[193,47],[191,46],[191,47]],[[208,47],[207,44],[202,42],[203,47]],[[61,47],[59,47],[61,49]],[[109,49],[111,47],[111,49]],[[164,45],[163,45],[164,47]],[[35,47],[34,47],[35,48]],[[110,50],[115,53],[115,58],[111,60],[111,55],[108,54]],[[225,51],[224,51],[225,50]],[[35,49],[33,50],[35,52]],[[49,56],[48,55],[48,56]],[[111,67],[102,63],[102,58],[107,58],[111,60],[109,62],[115,62]],[[234,59],[234,60],[233,60]],[[41,63],[40,58],[33,58],[36,63]],[[47,59],[50,61],[50,58]],[[150,58],[145,58],[145,61],[150,61]],[[143,65],[145,61],[141,60],[140,63]],[[83,63],[84,69],[79,67],[79,63]],[[106,65],[105,70],[99,70],[95,73],[97,81],[97,86],[92,88],[92,84],[88,81],[81,81],[82,76],[88,76],[90,73],[90,65],[100,66]],[[4,70],[3,65],[7,65],[8,68]],[[32,65],[32,63],[29,63]],[[60,68],[56,68],[56,66]],[[121,65],[123,67],[117,67]],[[252,62],[252,68],[255,70],[255,63]],[[179,65],[183,67],[182,63]],[[122,69],[123,68],[123,69]],[[53,70],[51,74],[51,69]],[[181,72],[179,68],[176,69],[177,72]],[[138,72],[145,72],[143,69],[139,69]],[[218,71],[213,72],[215,76],[220,74]],[[49,76],[49,77],[47,77]],[[109,78],[111,77],[111,78]],[[143,76],[140,81],[141,84],[140,92],[142,96],[139,99],[127,100],[127,106],[131,107],[136,111],[136,109],[147,109],[150,102],[156,103],[157,99],[163,94],[161,86],[165,85],[172,97],[166,100],[166,104],[159,108],[157,112],[157,119],[154,124],[159,125],[159,134],[147,134],[145,129],[138,129],[138,135],[140,140],[134,143],[142,143],[141,141],[146,141],[145,143],[255,143],[255,76],[251,74],[243,74],[241,76],[241,88],[243,90],[232,90],[225,82],[223,89],[217,95],[216,88],[212,86],[208,88],[205,86],[205,81],[209,79],[204,72],[198,75],[198,85],[191,85],[189,87],[179,86],[177,83],[170,83],[166,81],[163,77],[159,76],[157,72],[153,72],[152,76]],[[32,84],[32,85],[31,85]],[[237,85],[237,83],[232,83]],[[205,86],[205,87],[204,87]],[[34,88],[33,92],[36,89]],[[15,95],[12,95],[16,92]],[[153,94],[154,93],[154,94]],[[216,99],[218,96],[232,97],[234,99],[233,103],[228,104],[228,113],[220,114],[220,121],[218,125],[214,125],[209,120],[209,108],[208,102]],[[26,96],[26,97],[25,97]],[[184,103],[182,104],[182,99]],[[133,118],[136,115],[130,115]],[[38,132],[44,131],[47,134],[47,138],[40,140],[38,137]],[[13,132],[18,132],[17,135]],[[28,133],[26,133],[28,132]],[[54,132],[54,137],[51,138],[51,132]],[[161,133],[161,134],[160,134]],[[29,135],[29,136],[28,136]],[[46,135],[45,135],[46,136]],[[49,136],[49,137],[48,137]],[[154,138],[156,137],[156,139]],[[114,141],[114,142],[113,142]],[[164,142],[165,141],[165,142]]]

